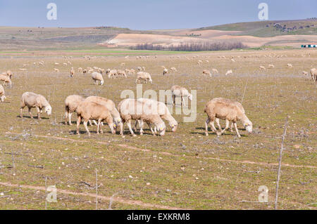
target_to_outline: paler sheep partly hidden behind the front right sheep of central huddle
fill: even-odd
[[[137,101],[149,104],[152,108],[156,109],[160,117],[168,121],[170,129],[172,129],[173,132],[175,132],[176,129],[178,129],[178,121],[176,121],[174,117],[170,114],[170,111],[168,110],[168,107],[166,107],[165,103],[147,98],[139,98],[137,99]]]

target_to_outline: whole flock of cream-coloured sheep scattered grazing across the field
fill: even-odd
[[[202,61],[198,61],[199,65],[201,65]],[[71,62],[64,63],[66,65],[71,65]],[[121,65],[123,65],[122,63]],[[39,62],[39,65],[44,65],[44,62]],[[55,62],[54,65],[59,65],[58,62]],[[26,66],[26,65],[25,65]],[[23,67],[25,67],[23,65]],[[163,66],[162,66],[163,67]],[[287,67],[292,67],[291,64],[287,64]],[[268,68],[274,68],[274,65],[268,65]],[[266,70],[264,66],[259,67],[260,70]],[[59,72],[58,69],[54,68],[56,72]],[[144,81],[147,83],[148,81],[152,83],[151,75],[148,72],[145,72],[144,67],[137,67],[137,79],[135,83],[138,81]],[[175,67],[170,68],[171,72],[176,72]],[[82,69],[82,67],[78,68],[78,72],[82,73],[91,73],[92,80],[94,84],[100,85],[104,84],[103,73],[105,72],[108,76],[108,79],[117,78],[117,77],[127,77],[127,74],[135,74],[135,70],[111,70],[108,69],[104,71],[99,67],[87,67],[86,69]],[[218,70],[213,69],[213,73],[218,73]],[[311,79],[317,82],[317,69],[313,68],[310,71]],[[70,77],[74,77],[75,70],[72,67],[70,69]],[[168,69],[163,67],[163,75],[168,74]],[[202,72],[204,76],[210,76],[211,72],[209,70],[204,70]],[[232,74],[232,70],[228,70],[226,75]],[[308,72],[303,72],[304,75],[308,75]],[[4,86],[7,84],[12,84],[12,76],[13,73],[8,70],[0,74],[0,81],[4,81]],[[4,86],[0,84],[0,100],[4,102],[6,99]],[[172,86],[172,97],[173,97],[173,104],[175,105],[175,98],[180,97],[181,105],[185,105],[185,98],[192,100],[192,94],[187,91],[186,88],[182,86]],[[28,108],[28,112],[30,117],[32,117],[31,108],[37,109],[37,118],[40,119],[40,114],[42,112],[46,112],[48,115],[51,114],[51,105],[49,102],[44,98],[43,95],[39,95],[36,93],[25,92],[21,98],[21,105],[20,105],[20,117],[23,117],[23,108]],[[107,98],[102,98],[100,96],[89,96],[87,98],[83,98],[80,95],[69,95],[65,100],[65,118],[66,124],[71,125],[71,116],[73,112],[77,113],[77,129],[76,133],[80,134],[79,126],[81,121],[83,122],[87,133],[90,136],[89,129],[87,124],[89,123],[92,125],[92,121],[94,124],[97,125],[97,134],[99,132],[103,133],[101,126],[103,122],[107,123],[109,128],[111,129],[111,133],[116,133],[116,130],[120,128],[120,135],[123,136],[123,128],[124,124],[128,124],[128,128],[132,136],[135,136],[135,132],[137,132],[137,124],[139,124],[139,134],[143,134],[143,124],[144,122],[147,123],[151,133],[156,135],[159,132],[160,136],[164,136],[166,132],[166,124],[164,123],[163,119],[168,121],[170,129],[174,132],[178,127],[178,122],[173,118],[168,110],[168,107],[164,103],[161,103],[156,100],[150,100],[146,98],[139,98],[135,99],[125,99],[122,100],[118,104],[118,109],[113,103],[112,100]],[[244,108],[242,107],[241,103],[229,100],[226,98],[214,98],[206,103],[204,112],[206,112],[208,119],[205,122],[205,134],[208,136],[208,126],[211,126],[211,130],[216,133],[217,136],[220,136],[224,131],[229,128],[229,124],[231,122],[230,131],[232,131],[232,127],[235,126],[235,131],[237,132],[237,136],[240,138],[240,133],[237,129],[237,121],[242,121],[244,128],[251,133],[252,132],[252,122],[247,118]],[[225,129],[221,129],[219,124],[219,119],[225,120]],[[131,121],[135,120],[134,131],[132,130]],[[219,131],[217,131],[214,121],[218,125]]]

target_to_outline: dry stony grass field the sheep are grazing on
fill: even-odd
[[[317,88],[302,71],[317,67],[317,51],[219,51],[157,58],[151,53],[142,59],[113,53],[92,60],[76,53],[72,59],[63,55],[46,51],[0,58],[0,72],[13,71],[13,86],[5,88],[7,99],[0,103],[1,209],[44,209],[45,185],[57,187],[57,202],[48,203],[47,209],[95,209],[96,169],[98,209],[108,209],[113,195],[111,209],[274,209],[278,150],[287,115],[278,208],[316,209]],[[41,60],[44,67],[33,65]],[[64,66],[68,60],[72,65]],[[18,70],[23,64],[27,70]],[[268,64],[275,68],[268,69]],[[163,77],[161,65],[178,72]],[[266,70],[259,70],[260,65]],[[143,91],[170,89],[174,84],[197,90],[197,119],[185,123],[185,115],[173,115],[178,130],[173,133],[168,127],[163,137],[152,136],[147,126],[144,136],[132,137],[126,125],[125,138],[111,135],[108,126],[98,136],[97,126],[88,126],[92,131],[88,137],[82,124],[82,134],[75,135],[76,115],[73,126],[63,119],[68,95],[100,95],[118,105],[121,91],[136,91],[136,75],[126,79],[104,75],[104,86],[95,86],[90,74],[77,72],[78,67],[94,66],[144,66],[153,83],[144,84]],[[70,67],[76,71],[73,78]],[[212,68],[219,74],[201,74]],[[230,69],[233,74],[225,76]],[[44,95],[51,116],[30,119],[25,108],[24,118],[18,117],[25,91]],[[253,133],[238,123],[242,138],[230,131],[220,138],[211,131],[204,136],[204,105],[216,97],[240,102],[243,98]],[[268,203],[258,202],[261,185],[268,187]]]

